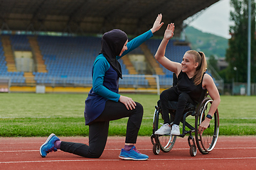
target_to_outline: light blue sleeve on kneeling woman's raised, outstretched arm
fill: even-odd
[[[131,52],[135,48],[139,47],[143,42],[146,40],[149,40],[149,38],[153,37],[153,33],[151,30],[146,31],[146,33],[143,33],[142,35],[137,36],[136,38],[132,39],[127,43],[127,50],[125,50],[121,56],[117,56],[117,60],[124,55],[127,55],[128,52]]]

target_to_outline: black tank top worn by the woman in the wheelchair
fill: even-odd
[[[206,73],[203,73],[203,76]],[[202,78],[203,80],[203,78]],[[180,72],[178,74],[178,80],[177,80],[177,89],[179,93],[186,93],[188,94],[193,101],[198,101],[201,99],[202,93],[205,93],[203,87],[202,87],[202,81],[197,86],[193,82],[193,78],[189,79],[188,75],[185,72]]]

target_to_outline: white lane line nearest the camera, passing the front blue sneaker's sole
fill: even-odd
[[[228,158],[174,158],[174,159],[149,159],[148,161],[194,161],[194,160],[203,160],[203,161],[212,161],[220,159],[256,159],[256,157],[228,157]],[[18,162],[0,162],[0,164],[20,164],[20,163],[46,163],[46,162],[116,162],[121,159],[74,159],[74,160],[47,160],[47,161],[18,161]]]

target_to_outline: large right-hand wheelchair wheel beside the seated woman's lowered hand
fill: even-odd
[[[199,152],[201,152],[202,154],[208,154],[211,150],[213,150],[218,140],[218,109],[215,111],[213,119],[210,120],[210,125],[206,130],[203,131],[203,134],[200,134],[198,132],[198,126],[203,122],[203,120],[205,120],[206,115],[209,112],[211,103],[213,103],[213,100],[211,98],[205,98],[201,103],[198,113],[196,113],[196,145],[198,147]]]

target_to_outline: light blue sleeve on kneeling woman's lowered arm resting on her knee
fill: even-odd
[[[92,69],[92,90],[102,97],[117,102],[119,101],[120,95],[103,86],[105,72],[107,72],[108,69],[110,69],[110,63],[107,62],[106,58],[103,56],[97,57]]]

